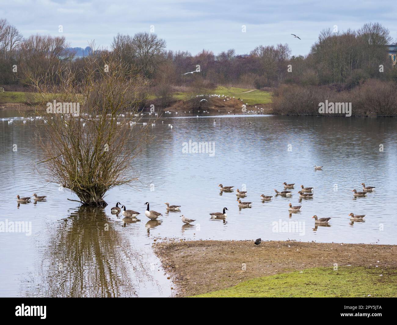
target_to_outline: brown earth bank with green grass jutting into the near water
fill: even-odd
[[[179,296],[195,296],[227,288],[231,290],[241,284],[245,288],[233,289],[233,292],[237,294],[240,290],[239,294],[248,295],[253,285],[249,283],[246,286],[245,281],[254,279],[262,283],[265,281],[262,278],[270,281],[263,282],[268,287],[252,294],[263,294],[270,290],[268,288],[272,288],[272,283],[280,286],[280,283],[293,283],[300,279],[304,281],[297,282],[296,285],[297,292],[302,296],[311,293],[341,296],[347,294],[342,288],[335,291],[333,285],[321,287],[326,283],[335,283],[337,279],[333,278],[335,281],[331,281],[331,277],[326,274],[339,276],[338,273],[333,273],[334,263],[337,263],[341,272],[340,280],[353,281],[353,285],[360,284],[360,290],[352,291],[352,294],[364,294],[366,290],[374,289],[380,284],[382,286],[379,288],[382,290],[384,284],[395,290],[395,245],[268,241],[255,246],[252,240],[173,240],[156,242],[154,251],[162,260],[165,271],[172,277]],[[304,277],[297,278],[298,274],[295,272],[303,274]],[[277,278],[281,275],[283,277]],[[311,276],[316,280],[310,280]],[[377,277],[380,279],[375,281]],[[371,287],[363,287],[366,284]],[[313,285],[320,287],[315,290],[311,288]],[[304,286],[307,286],[305,290]],[[276,296],[291,293],[285,288],[286,285],[278,289],[276,287],[270,290]],[[374,294],[381,291],[372,290]],[[389,294],[390,291],[382,292]],[[393,292],[396,294],[396,291]],[[366,293],[368,294],[373,295],[371,292]]]

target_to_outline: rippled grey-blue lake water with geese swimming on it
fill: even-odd
[[[34,168],[37,123],[18,116],[0,111],[0,223],[27,222],[31,234],[0,232],[0,296],[172,296],[151,248],[160,238],[397,244],[397,119],[167,114],[131,162],[141,183],[114,188],[106,208],[88,209],[42,181]],[[204,152],[196,152],[199,144]],[[291,198],[275,196],[283,182],[295,183]],[[220,183],[234,191],[221,192]],[[361,183],[376,191],[354,198]],[[314,187],[312,199],[299,199],[301,185]],[[237,188],[248,192],[241,200],[251,208],[238,207]],[[17,204],[17,194],[32,193],[48,198]],[[261,194],[274,197],[262,202]],[[140,221],[112,215],[118,201]],[[149,220],[146,201],[163,216]],[[181,212],[166,213],[165,202]],[[290,202],[301,212],[290,214]],[[210,219],[224,207],[225,220]],[[351,222],[351,212],[365,221]],[[196,221],[185,225],[181,214]],[[313,215],[332,219],[316,227]]]

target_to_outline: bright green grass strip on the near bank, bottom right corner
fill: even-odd
[[[383,276],[381,277],[380,274]],[[395,297],[397,270],[313,267],[260,277],[195,297]]]

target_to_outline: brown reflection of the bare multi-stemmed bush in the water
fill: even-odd
[[[131,247],[103,208],[81,206],[68,215],[48,226],[47,249],[22,281],[22,296],[131,297],[140,283],[153,282],[148,257]]]

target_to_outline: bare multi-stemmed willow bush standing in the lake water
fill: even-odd
[[[27,71],[31,87],[47,103],[35,112],[43,131],[37,134],[43,151],[38,165],[47,181],[74,192],[81,203],[105,206],[108,190],[138,181],[132,162],[147,127],[135,114],[146,81],[107,52],[85,60],[80,81],[62,62],[44,78]]]

